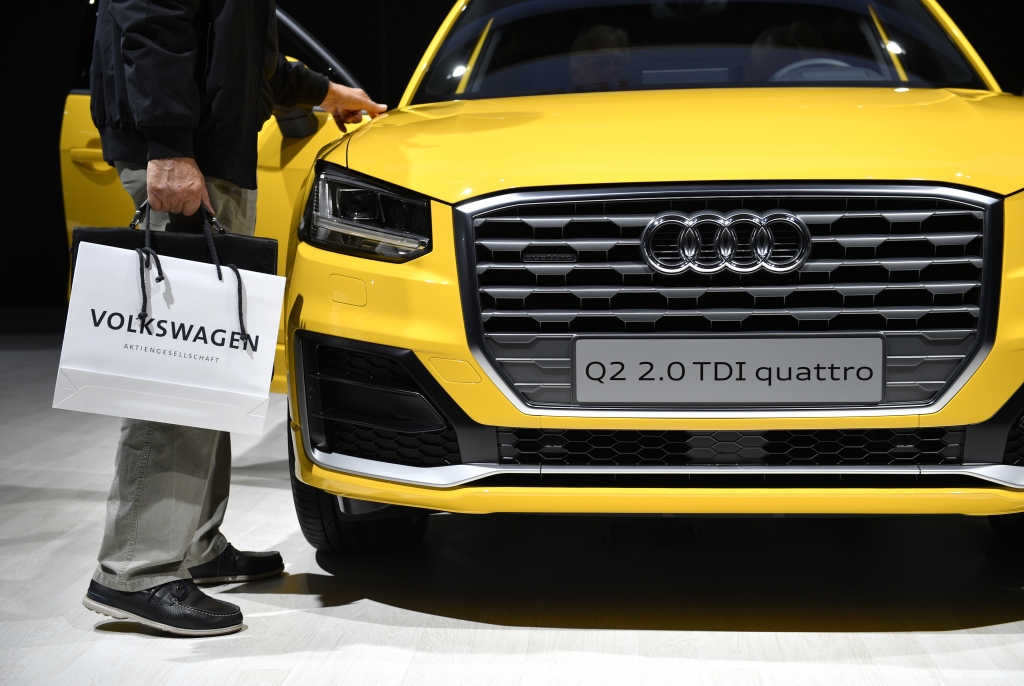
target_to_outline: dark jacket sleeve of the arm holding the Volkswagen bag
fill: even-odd
[[[196,31],[200,0],[111,0],[121,30],[128,106],[150,160],[195,157],[199,123]]]

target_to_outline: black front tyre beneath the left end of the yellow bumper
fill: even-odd
[[[338,499],[295,477],[295,452],[288,441],[288,466],[299,528],[309,545],[329,553],[385,553],[415,546],[427,530],[427,512],[389,507],[367,517],[342,514]]]

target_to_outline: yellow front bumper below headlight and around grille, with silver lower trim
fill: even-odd
[[[433,203],[432,218],[433,252],[409,264],[374,262],[305,244],[299,246],[286,302],[292,416],[305,417],[305,391],[300,381],[302,370],[296,367],[295,335],[300,331],[315,332],[406,351],[422,369],[421,386],[432,385],[432,392],[449,410],[454,408],[455,414],[462,415],[465,421],[460,419],[460,422],[464,421],[467,427],[481,427],[484,433],[478,433],[471,441],[475,447],[468,452],[463,448],[462,464],[410,467],[317,452],[300,423],[295,422],[291,434],[297,456],[296,473],[314,487],[360,500],[457,512],[997,514],[1024,511],[1024,467],[998,464],[1007,428],[1016,416],[1016,404],[1024,409],[1024,397],[1018,392],[1024,383],[1024,317],[1013,306],[1024,297],[1024,269],[1019,267],[1024,264],[1021,196],[1005,203],[1002,307],[995,343],[949,402],[934,412],[925,409],[912,415],[851,412],[843,417],[766,414],[744,418],[665,419],[559,417],[521,412],[490,381],[467,342],[452,209]],[[846,473],[849,468],[844,471],[838,467],[716,465],[621,468],[614,474],[601,468],[602,476],[612,479],[605,485],[579,478],[593,475],[592,469],[501,465],[494,455],[495,443],[488,446],[485,434],[489,429],[493,435],[497,426],[754,431],[964,425],[968,426],[964,464],[879,467],[870,471],[856,468],[855,474],[860,479],[868,476],[881,479],[869,482],[851,481],[853,474]],[[675,480],[671,481],[673,487],[621,485],[627,483],[627,478],[638,475],[672,476]],[[552,478],[555,476],[562,481]],[[716,480],[705,487],[701,484],[708,476]],[[679,480],[682,477],[685,483]],[[743,485],[730,486],[729,479],[733,477],[740,477]],[[794,477],[798,480],[794,481]],[[800,477],[806,478],[800,481]],[[787,480],[778,482],[780,478]],[[857,487],[847,487],[851,483]]]

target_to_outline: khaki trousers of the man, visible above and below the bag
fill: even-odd
[[[117,163],[135,207],[146,199],[145,167]],[[206,179],[217,219],[231,233],[252,235],[256,191]],[[164,230],[168,215],[154,212]],[[231,483],[231,436],[223,431],[126,419],[106,498],[99,564],[92,577],[119,591],[141,591],[178,578],[220,555]]]

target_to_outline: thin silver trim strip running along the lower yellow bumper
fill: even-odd
[[[293,434],[294,435],[294,434]],[[304,441],[305,442],[305,441]],[[306,455],[319,467],[370,479],[428,488],[454,488],[500,474],[872,474],[973,476],[1007,488],[1024,488],[1024,467],[1010,465],[956,465],[949,467],[762,467],[745,465],[695,465],[691,467],[542,467],[540,465],[465,464],[446,467],[408,467],[350,455],[321,453],[305,444]]]

